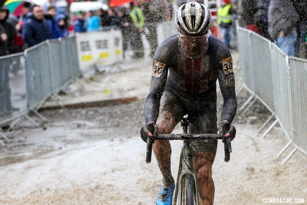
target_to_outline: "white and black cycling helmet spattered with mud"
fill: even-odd
[[[198,34],[209,30],[212,18],[211,12],[204,4],[188,2],[177,9],[175,21],[179,31]]]

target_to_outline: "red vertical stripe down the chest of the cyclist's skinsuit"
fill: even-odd
[[[185,88],[188,92],[199,93],[201,57],[191,59],[185,57]]]

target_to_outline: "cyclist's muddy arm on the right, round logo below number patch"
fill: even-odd
[[[224,52],[220,62],[218,62],[218,79],[224,100],[222,121],[227,120],[231,123],[237,111],[237,99],[235,96],[235,76],[232,69],[232,58],[228,48],[225,49],[227,49],[227,52]]]

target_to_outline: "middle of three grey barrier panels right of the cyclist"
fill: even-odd
[[[293,136],[290,70],[286,54],[275,44],[272,44],[272,73],[274,112],[286,133]]]

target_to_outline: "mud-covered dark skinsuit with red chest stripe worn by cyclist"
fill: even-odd
[[[160,108],[172,113],[176,124],[188,114],[191,133],[217,133],[217,79],[224,100],[222,120],[231,123],[237,105],[232,59],[227,46],[209,35],[202,53],[192,57],[184,52],[177,35],[166,39],[153,57],[150,93],[144,110],[146,123],[157,121]],[[217,140],[196,140],[193,144],[199,152],[216,152]]]

